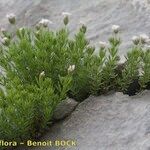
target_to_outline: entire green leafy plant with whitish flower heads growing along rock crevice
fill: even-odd
[[[2,31],[0,46],[0,138],[24,141],[36,138],[51,122],[54,109],[72,97],[83,101],[90,94],[109,90],[126,92],[136,80],[141,89],[150,83],[150,51],[143,51],[146,35],[134,36],[134,46],[119,68],[120,27],[112,26],[108,43],[100,42],[99,52],[86,38],[82,24],[69,36],[69,16],[64,27],[52,31],[52,22],[42,19],[35,29]],[[8,20],[15,25],[16,18]],[[140,70],[142,74],[140,75]]]

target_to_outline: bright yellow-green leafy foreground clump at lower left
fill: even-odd
[[[70,81],[70,77],[60,77],[57,93],[52,80],[43,75],[37,84],[22,84],[18,78],[8,81],[7,94],[0,95],[0,138],[25,140],[42,133],[57,104],[66,98]]]

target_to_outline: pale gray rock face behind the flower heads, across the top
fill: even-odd
[[[133,35],[149,34],[150,0],[0,0],[0,26],[8,26],[6,14],[17,15],[19,26],[33,26],[41,18],[53,21],[51,28],[62,26],[63,11],[72,13],[71,33],[76,32],[79,22],[88,26],[87,36],[91,42],[105,41],[111,35],[112,24],[121,26],[124,41],[120,55],[126,54]]]

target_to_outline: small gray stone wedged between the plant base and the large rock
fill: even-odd
[[[78,105],[78,102],[68,98],[67,100],[62,101],[55,109],[53,114],[53,120],[61,120],[67,117]]]

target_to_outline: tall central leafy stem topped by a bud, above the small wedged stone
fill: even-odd
[[[88,41],[85,38],[85,27],[81,27],[79,32],[75,35],[74,41],[69,42],[69,57],[72,64],[75,64],[76,68],[73,73],[73,84],[70,90],[71,97],[74,97],[77,100],[82,100],[87,97],[89,92],[88,85],[88,56],[87,51]]]

